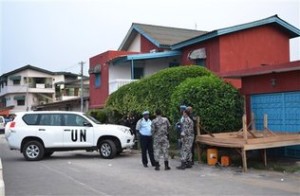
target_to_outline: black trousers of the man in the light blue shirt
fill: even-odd
[[[148,164],[147,152],[151,161],[151,165],[155,165],[154,155],[153,155],[153,140],[152,136],[140,135],[141,149],[142,149],[142,162],[143,165]]]

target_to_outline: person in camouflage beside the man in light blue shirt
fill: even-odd
[[[151,132],[153,137],[153,149],[155,159],[155,170],[159,170],[159,159],[162,153],[165,161],[165,170],[170,170],[169,167],[169,139],[168,129],[170,128],[170,122],[167,118],[162,117],[161,111],[156,110],[156,118],[152,121]]]

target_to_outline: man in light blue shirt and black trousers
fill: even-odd
[[[142,149],[142,163],[144,167],[148,167],[147,153],[149,154],[151,165],[155,166],[151,124],[152,122],[149,119],[149,111],[144,111],[143,118],[141,118],[136,124],[136,130],[139,132],[140,136],[140,145]]]

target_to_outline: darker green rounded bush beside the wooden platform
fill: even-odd
[[[178,103],[193,107],[201,127],[210,132],[235,131],[241,128],[243,99],[238,91],[211,75],[189,78],[176,87],[171,96],[171,117],[178,119]]]

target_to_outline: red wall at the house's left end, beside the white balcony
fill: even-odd
[[[132,52],[127,51],[107,51],[97,56],[90,58],[90,69],[96,65],[101,65],[101,86],[95,87],[95,74],[90,74],[90,108],[102,108],[108,97],[108,82],[109,82],[109,63],[108,61]]]

